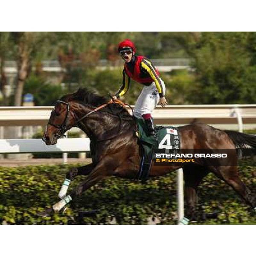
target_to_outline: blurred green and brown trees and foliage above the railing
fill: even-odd
[[[32,93],[35,105],[53,105],[79,87],[115,93],[122,82],[116,48],[125,38],[147,58],[190,60],[190,69],[160,74],[169,104],[255,103],[256,32],[0,32],[0,104],[21,105],[22,96]],[[105,69],[98,68],[102,59]],[[9,60],[17,63],[17,78],[6,101]],[[44,60],[57,61],[65,72],[44,72]],[[133,82],[125,102],[134,104],[141,89]]]

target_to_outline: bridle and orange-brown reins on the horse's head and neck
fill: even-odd
[[[68,114],[71,113],[71,111],[70,111],[70,103],[69,103],[69,102],[64,102],[64,101],[62,101],[62,100],[58,100],[58,101],[56,102],[56,104],[57,104],[58,102],[67,106],[65,119],[64,119],[64,121],[62,122],[61,125],[55,125],[55,124],[51,123],[50,120],[49,120],[48,125],[52,125],[53,127],[55,127],[55,128],[58,129],[58,131],[57,131],[57,133],[55,134],[55,136],[56,136],[57,138],[60,138],[60,137],[62,137],[62,136],[66,136],[66,135],[65,135],[65,132],[68,130],[68,129],[67,129],[67,117],[68,117]],[[100,109],[102,109],[102,108],[105,108],[107,105],[112,104],[112,103],[120,104],[120,105],[122,105],[123,107],[125,107],[125,106],[127,105],[127,104],[123,103],[122,101],[120,101],[120,100],[118,100],[118,99],[116,99],[116,100],[114,100],[114,101],[111,99],[109,102],[100,105],[99,107],[93,109],[92,111],[90,111],[89,113],[85,114],[84,116],[82,116],[82,117],[79,118],[79,119],[77,119],[77,118],[76,118],[76,115],[73,113],[73,116],[74,116],[74,118],[76,119],[76,122],[74,123],[73,126],[78,126],[78,127],[79,127],[79,123],[80,123],[84,118],[86,118],[86,117],[89,116],[90,114],[95,113],[96,111],[98,111],[98,110],[100,110]],[[131,108],[130,105],[129,105],[129,107]],[[131,108],[131,109],[132,109],[132,108]],[[120,118],[120,116],[119,116],[119,118]],[[119,131],[118,131],[118,133],[117,133],[116,135],[112,136],[111,138],[104,139],[104,140],[110,140],[110,139],[112,139],[113,137],[116,137],[116,136],[119,134],[119,132],[120,132],[120,130],[121,130],[121,125],[122,125],[122,119],[120,118],[120,120],[121,120],[121,122],[120,122],[120,124],[119,124]],[[103,141],[103,140],[100,140],[100,141]],[[98,141],[98,142],[99,142],[99,141]]]

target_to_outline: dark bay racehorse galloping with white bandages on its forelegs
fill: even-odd
[[[87,89],[79,89],[76,93],[63,96],[53,109],[43,140],[47,145],[57,143],[67,130],[79,127],[90,138],[92,163],[71,169],[66,176],[62,198],[51,209],[41,215],[47,215],[53,210],[58,212],[68,204],[73,197],[81,195],[86,189],[100,180],[115,175],[123,178],[137,176],[140,166],[139,145],[135,137],[136,122],[121,105],[108,104],[108,99],[96,95]],[[243,149],[245,145],[256,148],[256,137],[235,131],[222,131],[209,125],[195,123],[178,128],[180,133],[180,148],[182,149]],[[185,195],[188,205],[186,217],[195,217],[195,201],[198,185],[201,180],[212,172],[231,186],[244,201],[253,209],[256,208],[256,196],[241,181],[237,172],[237,157],[229,159],[229,166],[209,165],[207,161],[196,161],[194,164],[168,166],[152,165],[150,177],[165,175],[171,171],[183,168],[185,180]],[[77,175],[88,175],[86,179],[69,195],[66,195],[70,180]]]

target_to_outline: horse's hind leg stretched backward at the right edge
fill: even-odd
[[[212,172],[230,185],[250,207],[256,209],[256,196],[241,181],[237,166],[219,166],[213,168]]]

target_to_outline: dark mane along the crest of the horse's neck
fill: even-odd
[[[87,88],[79,88],[75,93],[61,97],[61,100],[76,100],[85,105],[91,105],[94,107],[99,107],[102,104],[107,103],[110,99],[105,96],[100,96]],[[110,104],[108,107],[102,108],[101,111],[105,111],[112,114],[121,113],[122,117],[129,117],[131,115],[119,104]]]

